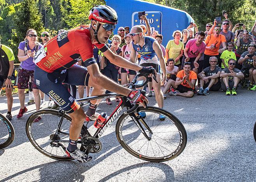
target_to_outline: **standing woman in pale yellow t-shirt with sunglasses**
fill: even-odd
[[[182,57],[184,52],[184,44],[181,41],[179,41],[181,38],[181,31],[174,31],[172,36],[174,37],[174,39],[168,41],[165,50],[165,57],[166,60],[168,60],[169,58],[173,58],[174,65],[181,67],[181,62],[179,59]]]

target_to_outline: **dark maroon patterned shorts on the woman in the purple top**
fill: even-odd
[[[38,89],[34,82],[34,70],[18,69],[18,89],[27,89],[29,78],[31,78],[31,88]]]

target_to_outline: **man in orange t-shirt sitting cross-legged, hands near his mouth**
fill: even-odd
[[[182,97],[194,96],[194,85],[196,82],[196,73],[191,71],[190,62],[184,62],[183,70],[177,73],[176,81],[171,80],[171,85],[177,91],[169,92],[169,95],[179,95]],[[170,81],[170,80],[169,80]]]

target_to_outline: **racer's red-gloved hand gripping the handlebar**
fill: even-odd
[[[132,101],[132,103],[137,103],[137,104],[142,104],[143,107],[146,108],[146,103],[149,103],[149,101],[147,100],[146,96],[145,96],[146,92],[139,89],[139,90],[132,90],[130,92],[130,94],[128,95],[128,99],[130,99]]]

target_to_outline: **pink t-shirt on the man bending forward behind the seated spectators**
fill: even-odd
[[[195,58],[199,53],[203,53],[205,51],[206,44],[202,42],[200,46],[196,45],[196,39],[190,39],[186,44],[186,48],[188,48],[188,57]]]

